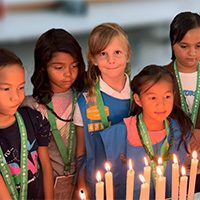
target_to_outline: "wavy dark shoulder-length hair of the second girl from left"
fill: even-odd
[[[77,40],[64,29],[50,29],[43,33],[36,42],[35,69],[31,77],[33,98],[44,105],[51,101],[53,95],[47,73],[47,64],[57,52],[68,53],[77,60],[78,76],[72,85],[77,92],[81,92],[85,85],[85,63]]]

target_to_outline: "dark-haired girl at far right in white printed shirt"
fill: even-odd
[[[166,67],[176,77],[176,100],[191,117],[195,128],[191,151],[197,150],[200,156],[200,15],[192,12],[176,15],[170,25],[170,41],[172,62]],[[196,192],[200,192],[200,175]]]

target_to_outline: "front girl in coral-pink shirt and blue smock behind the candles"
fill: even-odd
[[[144,157],[149,160],[153,172],[150,199],[155,199],[154,183],[158,157],[162,157],[166,166],[166,197],[171,197],[172,154],[177,155],[179,164],[183,164],[186,159],[192,122],[182,109],[174,104],[174,81],[171,72],[163,67],[145,67],[131,82],[134,99],[132,116],[101,133],[107,158],[115,166],[112,170],[114,183],[117,181],[115,187],[126,184],[123,180],[126,170],[122,170],[124,164],[119,157],[123,154],[127,160],[132,159],[135,170],[134,199],[139,199],[140,195],[142,182],[138,176],[143,174]]]

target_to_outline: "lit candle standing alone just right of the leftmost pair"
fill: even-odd
[[[133,199],[134,176],[135,176],[135,171],[133,170],[132,161],[131,159],[129,159],[129,170],[127,171],[127,176],[126,176],[126,200]]]

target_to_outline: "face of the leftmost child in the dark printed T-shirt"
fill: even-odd
[[[13,117],[24,100],[25,74],[22,66],[0,68],[0,117]]]

